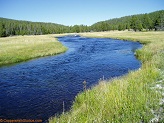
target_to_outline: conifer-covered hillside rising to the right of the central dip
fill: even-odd
[[[93,24],[91,29],[92,31],[164,30],[164,10],[101,21]]]

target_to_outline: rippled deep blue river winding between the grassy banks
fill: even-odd
[[[121,76],[141,66],[138,42],[59,37],[66,53],[0,68],[0,118],[47,120],[69,110],[74,97],[98,81]]]

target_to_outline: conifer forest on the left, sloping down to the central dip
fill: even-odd
[[[18,21],[6,18],[0,18],[0,37],[12,35],[42,35],[42,34],[60,34],[72,32],[87,32],[88,26],[74,25],[64,26],[55,23]]]

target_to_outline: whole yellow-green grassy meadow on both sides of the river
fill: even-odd
[[[79,93],[70,111],[51,117],[49,122],[164,122],[164,32],[109,31],[80,35],[139,41],[143,48],[135,55],[142,66]],[[0,66],[65,52],[67,48],[55,36],[61,35],[0,38]]]

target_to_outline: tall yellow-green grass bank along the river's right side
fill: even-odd
[[[122,77],[101,81],[78,94],[69,112],[52,117],[49,122],[164,122],[164,104],[160,102],[164,96],[164,32],[114,31],[81,35],[140,41],[145,45],[136,51],[136,56],[142,61],[142,67]]]

